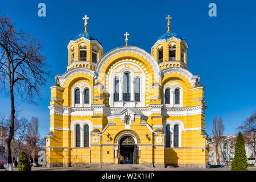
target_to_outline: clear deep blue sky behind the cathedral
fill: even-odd
[[[46,17],[38,16],[38,4],[46,3]],[[217,5],[217,17],[208,15],[208,5]],[[256,1],[2,1],[0,15],[6,13],[24,30],[41,39],[53,75],[67,71],[70,39],[84,31],[82,17],[89,16],[88,31],[104,46],[104,53],[125,45],[150,52],[156,39],[171,31],[186,39],[188,70],[201,77],[208,109],[205,127],[212,133],[214,115],[224,121],[224,134],[234,131],[256,110]],[[54,78],[42,88],[38,105],[19,101],[22,115],[39,118],[41,135],[49,132],[49,101]],[[1,95],[1,112],[10,113],[9,97]]]

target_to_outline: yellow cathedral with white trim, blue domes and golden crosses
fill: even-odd
[[[68,43],[68,65],[51,86],[48,167],[205,168],[204,86],[188,71],[185,39],[168,30],[151,53],[135,46],[104,54],[88,31]]]

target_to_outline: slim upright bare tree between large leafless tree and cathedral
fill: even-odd
[[[28,124],[28,130],[26,135],[26,140],[28,145],[30,146],[30,158],[33,159],[33,163],[35,163],[36,156],[36,146],[39,141],[40,135],[38,131],[38,118],[32,117],[30,123]]]

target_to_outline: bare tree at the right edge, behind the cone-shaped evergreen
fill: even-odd
[[[237,130],[242,132],[245,143],[253,148],[254,158],[256,158],[256,111],[245,121],[242,121],[242,125],[238,126]],[[256,161],[254,166],[256,166]]]

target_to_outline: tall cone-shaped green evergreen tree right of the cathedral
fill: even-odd
[[[247,166],[245,140],[243,139],[242,133],[239,131],[231,171],[248,171]]]

